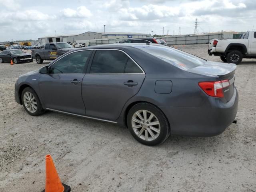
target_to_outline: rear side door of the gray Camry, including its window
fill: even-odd
[[[82,82],[86,116],[116,120],[144,81],[142,68],[121,50],[99,49]]]

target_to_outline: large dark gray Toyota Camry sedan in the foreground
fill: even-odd
[[[236,117],[235,70],[158,44],[92,46],[20,76],[15,100],[32,116],[51,110],[112,122],[156,145],[170,134],[222,133]]]

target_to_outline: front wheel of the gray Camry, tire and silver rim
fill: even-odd
[[[39,116],[44,113],[42,104],[36,92],[32,88],[24,88],[21,94],[21,100],[22,105],[28,114],[32,116]]]

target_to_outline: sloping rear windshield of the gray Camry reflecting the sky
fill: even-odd
[[[141,48],[141,50],[183,70],[195,68],[206,63],[206,60],[202,58],[168,46],[148,46]]]

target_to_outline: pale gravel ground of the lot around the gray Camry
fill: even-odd
[[[202,58],[208,45],[178,46]],[[256,191],[256,60],[237,66],[237,124],[208,138],[170,136],[144,146],[115,124],[46,112],[28,115],[14,101],[15,78],[43,64],[0,65],[0,192],[44,189],[51,154],[72,192]]]

